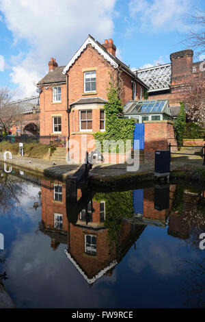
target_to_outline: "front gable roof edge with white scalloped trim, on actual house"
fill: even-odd
[[[64,74],[66,74],[66,72],[70,69],[70,67],[79,58],[83,50],[85,50],[85,48],[89,44],[92,45],[92,47],[94,47],[94,49],[96,49],[98,53],[100,53],[100,55],[102,55],[105,58],[105,60],[107,60],[115,69],[120,68],[124,70],[126,73],[131,75],[131,77],[135,78],[139,83],[141,83],[144,87],[148,88],[148,85],[142,82],[141,79],[139,79],[136,76],[136,74],[133,73],[133,71],[131,71],[131,69],[126,64],[124,64],[124,62],[121,62],[117,57],[111,55],[111,53],[109,53],[109,51],[107,51],[107,49],[100,44],[100,42],[95,40],[90,35],[87,37],[85,42],[83,42],[83,45],[79,48],[79,50],[74,54],[70,62],[68,62],[68,64],[64,68],[64,71],[63,71]]]

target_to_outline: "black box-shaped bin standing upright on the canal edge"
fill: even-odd
[[[154,173],[169,173],[170,172],[170,151],[169,150],[158,150],[155,151],[155,164]]]

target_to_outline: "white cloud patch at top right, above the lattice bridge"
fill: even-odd
[[[127,32],[132,31],[136,24],[146,32],[187,30],[184,16],[190,12],[191,3],[191,0],[131,0],[129,13],[132,23],[128,25]]]

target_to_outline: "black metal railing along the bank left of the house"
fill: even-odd
[[[66,136],[50,135],[50,136],[4,136],[3,141],[9,143],[38,143],[42,145],[55,145],[57,147],[66,147]]]

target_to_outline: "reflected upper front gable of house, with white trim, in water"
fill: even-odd
[[[111,243],[105,227],[99,230],[71,224],[66,256],[87,283],[93,284],[102,275],[112,274],[115,265],[139,238],[144,227],[123,221],[119,240]]]

